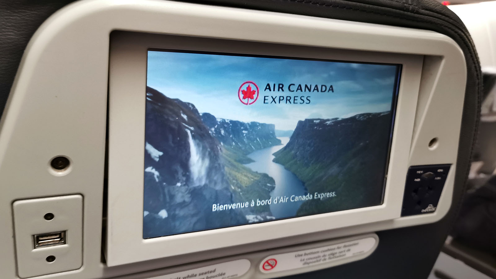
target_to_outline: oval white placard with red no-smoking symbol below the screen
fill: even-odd
[[[286,271],[358,256],[369,252],[375,242],[375,238],[367,237],[303,251],[271,255],[262,260],[260,271],[263,273]]]

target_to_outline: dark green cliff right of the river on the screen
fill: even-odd
[[[298,176],[310,193],[336,197],[307,201],[298,214],[379,204],[388,155],[391,113],[299,121],[274,162]]]

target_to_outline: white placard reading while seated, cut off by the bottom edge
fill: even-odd
[[[248,272],[250,261],[246,259],[225,262],[197,269],[151,277],[149,279],[228,279]]]

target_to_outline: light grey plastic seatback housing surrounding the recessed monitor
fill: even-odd
[[[149,270],[154,270],[150,274],[168,274],[171,270],[164,269],[168,266],[434,222],[449,209],[454,168],[440,199],[445,209],[427,217],[391,219],[276,241],[260,239],[236,247],[107,267],[102,263],[101,250],[108,61],[113,30],[422,55],[424,67],[409,164],[446,163],[438,161],[444,153],[450,156],[449,163],[456,163],[466,68],[461,50],[444,35],[172,1],[76,2],[54,14],[32,38],[0,122],[0,185],[8,185],[0,196],[0,221],[6,224],[0,227],[2,235],[13,232],[11,206],[16,200],[69,194],[84,196],[83,266],[44,278],[109,278]],[[333,40],[329,40],[329,36]],[[446,100],[449,106],[445,105]],[[439,148],[429,150],[426,146],[433,137],[439,137]],[[66,175],[55,176],[48,164],[60,154],[71,159],[72,169]],[[19,167],[20,160],[22,167]],[[2,276],[18,278],[13,240],[0,243],[0,259]]]

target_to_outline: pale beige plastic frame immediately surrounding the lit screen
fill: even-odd
[[[113,36],[111,45],[108,245],[128,249],[141,255],[139,260],[147,260],[400,217],[423,56],[174,35],[142,36],[141,40],[132,36]],[[143,239],[144,90],[148,49],[401,64],[382,205]],[[113,233],[123,231],[125,233]]]

